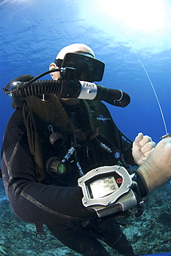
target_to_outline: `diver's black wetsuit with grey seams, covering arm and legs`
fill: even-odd
[[[90,102],[90,109],[94,116],[94,122],[96,122],[95,127],[99,122],[101,133],[103,133],[104,127],[104,134],[107,134],[109,138],[108,141],[106,138],[103,140],[99,135],[97,136],[99,140],[101,139],[103,143],[111,146],[112,133],[117,133],[122,145],[114,145],[114,147],[119,147],[125,159],[133,163],[130,143],[122,141],[116,127],[114,131],[108,129],[110,128],[108,123],[113,122],[108,109],[98,102],[99,115],[99,113],[95,113],[96,109],[92,110],[94,103],[91,104]],[[73,119],[72,114],[75,113],[74,117],[77,118],[77,125],[79,125],[77,107],[64,107],[71,119]],[[52,131],[47,129],[47,132]],[[43,133],[46,134],[46,131]],[[99,145],[94,145],[94,137],[89,140],[88,146],[85,145],[86,142],[82,138],[76,149],[77,158],[84,173],[91,170],[92,167],[106,165],[105,159],[108,156],[105,156],[104,161],[102,156],[107,153]],[[89,154],[87,154],[87,149],[89,149]],[[46,150],[48,154],[48,144]],[[115,162],[116,160],[114,160]],[[81,202],[83,194],[81,188],[77,186],[79,172],[76,170],[76,165],[72,165],[72,163],[70,165],[69,169],[73,170],[68,171],[69,174],[64,174],[60,178],[55,175],[50,176],[48,184],[45,184],[44,181],[43,183],[39,182],[35,171],[37,163],[35,163],[35,158],[30,152],[30,145],[28,145],[23,112],[22,110],[14,111],[6,127],[3,140],[2,174],[8,199],[16,216],[26,222],[46,224],[57,239],[82,255],[108,255],[98,239],[105,241],[106,244],[123,255],[134,255],[132,246],[125,239],[115,218],[99,219],[96,212],[90,212],[83,206]]]

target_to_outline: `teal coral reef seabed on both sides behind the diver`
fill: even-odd
[[[122,227],[131,242],[135,253],[169,253],[171,251],[171,184],[157,190],[145,204],[145,211],[140,217],[132,214],[128,219],[119,217],[119,221],[127,223]],[[35,226],[24,223],[14,216],[0,179],[0,256],[64,256],[79,255],[63,246],[54,238],[45,226],[46,240],[35,237]],[[106,246],[111,256],[119,255]]]

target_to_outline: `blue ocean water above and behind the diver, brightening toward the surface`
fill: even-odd
[[[99,84],[121,89],[130,95],[128,107],[108,106],[124,134],[134,140],[137,133],[142,131],[155,142],[165,134],[159,106],[141,62],[159,97],[168,132],[171,131],[171,3],[167,0],[139,1],[143,6],[138,7],[143,7],[144,12],[143,22],[139,24],[137,2],[129,1],[129,6],[132,4],[130,10],[137,14],[132,24],[139,24],[139,27],[131,27],[128,26],[131,17],[128,16],[126,20],[124,16],[123,19],[128,1],[121,2],[122,6],[117,6],[118,1],[110,0],[105,1],[105,5],[101,0],[0,1],[1,141],[13,111],[12,100],[2,93],[3,86],[19,75],[37,76],[47,71],[58,51],[73,43],[88,44],[97,59],[105,63],[105,73]],[[119,11],[120,16],[117,15]],[[165,15],[162,26],[148,30],[152,15],[157,11]],[[146,24],[148,18],[149,24]],[[50,76],[43,78],[49,79]]]

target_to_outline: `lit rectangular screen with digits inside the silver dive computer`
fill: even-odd
[[[90,190],[93,199],[99,199],[119,189],[114,176],[99,179],[90,183]]]

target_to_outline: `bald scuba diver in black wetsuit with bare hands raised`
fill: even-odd
[[[59,51],[50,64],[52,80],[61,82],[67,66],[70,80],[92,83],[103,77],[103,63],[84,44]],[[6,127],[1,163],[10,205],[19,219],[36,224],[38,238],[44,236],[44,224],[81,255],[109,255],[101,240],[121,255],[133,256],[117,213],[129,214],[131,208],[141,212],[148,192],[169,181],[171,163],[167,161],[164,167],[163,163],[170,154],[170,138],[163,138],[155,147],[149,136],[139,133],[130,143],[123,139],[105,104],[67,98],[67,90],[61,98],[45,93],[12,102],[16,110]],[[133,172],[129,165],[139,167]],[[100,172],[98,181],[94,170]],[[121,193],[125,181],[131,185]],[[114,199],[111,207],[104,205],[99,210],[103,203],[97,205],[96,201],[115,192],[121,203]],[[87,207],[89,199],[94,205]]]

